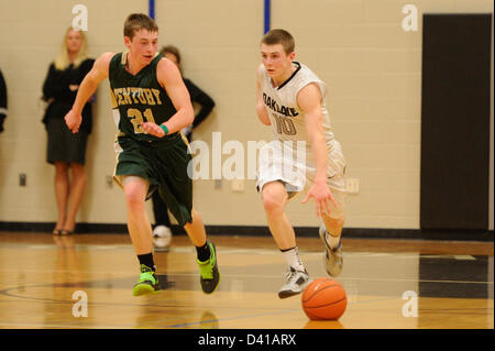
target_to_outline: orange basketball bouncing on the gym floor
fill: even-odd
[[[336,320],[345,311],[348,297],[339,282],[330,278],[318,278],[306,286],[301,303],[309,319]]]

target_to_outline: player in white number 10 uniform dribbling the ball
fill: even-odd
[[[345,158],[334,139],[324,105],[326,85],[308,67],[294,61],[295,43],[284,30],[267,32],[261,42],[256,112],[271,125],[274,141],[260,152],[256,186],[262,194],[270,231],[287,264],[280,298],[299,294],[309,284],[285,206],[307,190],[321,218],[324,265],[329,275],[342,270],[340,241],[344,222]]]

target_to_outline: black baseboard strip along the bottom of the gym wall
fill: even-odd
[[[0,221],[0,231],[52,232],[54,222],[4,222]],[[206,226],[210,235],[270,237],[266,226]],[[318,238],[317,227],[294,228],[299,238]],[[124,223],[78,223],[76,233],[110,233],[127,234]],[[186,232],[178,226],[172,226],[175,235]],[[420,230],[420,229],[389,229],[389,228],[344,228],[344,238],[355,239],[406,239],[406,240],[459,240],[459,241],[494,241],[493,230]]]

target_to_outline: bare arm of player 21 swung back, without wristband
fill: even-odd
[[[95,94],[98,85],[108,77],[110,61],[113,53],[105,53],[92,65],[91,70],[82,79],[79,90],[77,91],[76,100],[74,101],[72,110],[65,116],[67,127],[77,133],[82,120],[81,111],[89,98]]]

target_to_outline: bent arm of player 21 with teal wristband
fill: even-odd
[[[168,121],[162,123],[167,130],[166,134],[173,134],[183,128],[190,125],[195,120],[195,111],[190,102],[189,91],[184,84],[177,66],[167,58],[162,58],[156,66],[156,78],[166,90],[176,109],[176,113]],[[146,133],[155,136],[164,136],[165,131],[154,122],[143,123]]]

